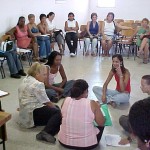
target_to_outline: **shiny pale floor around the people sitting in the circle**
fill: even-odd
[[[106,127],[104,133],[119,134],[122,137],[125,137],[123,130],[118,124],[119,116],[122,114],[127,114],[130,105],[132,105],[136,100],[146,97],[146,94],[143,94],[140,90],[140,79],[144,74],[150,73],[150,63],[144,65],[140,63],[140,60],[133,60],[133,57],[127,59],[124,57],[125,66],[130,70],[131,73],[131,99],[130,104],[121,106],[120,108],[113,109],[110,107],[110,113],[112,116],[113,126]],[[92,92],[92,87],[94,85],[102,86],[108,72],[111,69],[111,58],[102,58],[102,57],[84,57],[82,56],[82,50],[79,50],[78,56],[75,58],[70,58],[68,51],[65,51],[65,56],[62,61],[68,79],[79,79],[83,78],[89,83],[89,98],[95,99],[95,96]],[[29,68],[27,63],[24,63],[25,70]],[[55,145],[50,145],[46,143],[41,143],[36,141],[35,135],[42,129],[38,127],[35,129],[21,129],[17,125],[18,112],[16,108],[18,107],[18,94],[17,89],[22,81],[21,79],[12,79],[9,77],[9,71],[7,65],[5,66],[6,78],[0,79],[0,89],[8,91],[9,96],[2,98],[3,109],[12,114],[12,119],[7,123],[7,133],[8,141],[6,142],[7,150],[60,150],[62,148],[58,141]],[[57,78],[57,81],[60,80],[60,77]],[[114,79],[109,84],[109,88],[115,88]],[[59,105],[62,101],[59,102]],[[131,144],[129,148],[123,148],[127,150],[135,149],[136,145]],[[0,149],[2,146],[0,145]],[[120,147],[105,147],[103,142],[101,142],[101,150],[120,150]]]

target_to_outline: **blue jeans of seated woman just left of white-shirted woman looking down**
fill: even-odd
[[[51,53],[49,37],[37,37],[40,58],[46,58]]]

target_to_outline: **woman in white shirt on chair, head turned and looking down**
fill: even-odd
[[[59,47],[59,50],[60,50],[60,53],[61,54],[64,54],[64,38],[63,38],[63,35],[61,34],[62,30],[57,30],[56,29],[56,26],[53,22],[53,19],[55,17],[55,14],[54,12],[50,12],[48,15],[47,15],[47,24],[48,24],[48,29],[49,29],[49,32],[52,36],[52,38],[54,39],[54,41],[57,42],[58,44],[58,47]],[[53,40],[52,40],[53,41]],[[54,42],[53,42],[54,43]],[[51,43],[52,44],[52,43]],[[54,44],[53,44],[54,45]],[[54,46],[53,46],[54,47]]]

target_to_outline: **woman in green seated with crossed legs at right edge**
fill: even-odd
[[[141,23],[141,27],[137,28],[133,36],[131,37],[130,41],[133,40],[133,38],[137,35],[137,46],[139,47],[139,51],[137,56],[140,57],[144,55],[143,63],[148,63],[148,57],[149,57],[149,43],[150,40],[147,37],[144,37],[145,35],[149,35],[150,33],[150,27],[149,27],[149,20],[147,18],[144,18]],[[149,36],[150,37],[150,36]]]

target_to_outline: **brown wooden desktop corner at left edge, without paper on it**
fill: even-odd
[[[0,111],[0,127],[11,119],[11,114]]]

